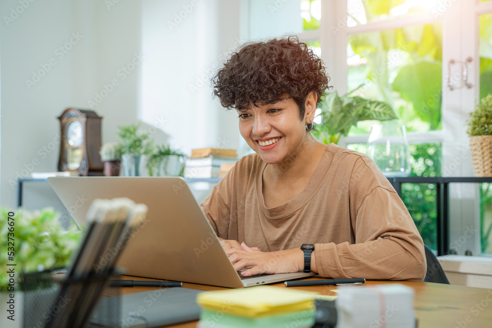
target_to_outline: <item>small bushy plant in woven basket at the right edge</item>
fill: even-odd
[[[466,121],[476,177],[492,177],[492,95],[480,99]]]

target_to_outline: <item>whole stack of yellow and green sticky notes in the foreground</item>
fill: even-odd
[[[272,286],[200,293],[199,328],[312,327],[317,293]]]

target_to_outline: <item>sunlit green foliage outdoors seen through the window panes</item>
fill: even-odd
[[[485,2],[486,0],[481,0]],[[488,0],[487,0],[488,1]],[[404,0],[363,0],[365,18],[374,22],[392,17]],[[412,13],[423,12],[414,8]],[[410,13],[410,11],[409,11]],[[491,93],[492,14],[480,15],[480,97]],[[348,88],[361,83],[361,95],[390,104],[409,132],[442,128],[442,25],[419,25],[348,36]],[[367,134],[372,122],[360,122],[350,134]],[[362,146],[362,147],[360,147]],[[365,145],[355,147],[361,151]],[[364,152],[364,151],[361,151]],[[411,177],[441,176],[441,145],[410,145]],[[436,190],[434,184],[402,184],[402,199],[424,242],[436,249]],[[492,253],[492,184],[480,186],[482,252]]]

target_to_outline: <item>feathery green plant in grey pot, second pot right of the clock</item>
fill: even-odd
[[[143,155],[150,155],[154,145],[148,131],[139,132],[140,124],[119,126],[118,144],[122,153],[123,173],[126,177],[140,176]]]

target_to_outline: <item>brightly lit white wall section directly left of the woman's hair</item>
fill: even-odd
[[[173,147],[237,148],[237,115],[212,99],[210,79],[240,45],[239,1],[144,1],[141,118]]]

